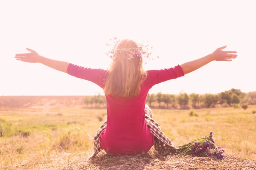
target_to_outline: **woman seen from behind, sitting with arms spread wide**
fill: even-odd
[[[151,117],[150,108],[145,104],[146,96],[154,85],[176,79],[201,68],[212,61],[232,61],[236,51],[213,53],[163,70],[143,70],[145,51],[132,40],[122,40],[113,50],[111,67],[108,70],[84,68],[68,62],[56,61],[30,53],[16,54],[23,62],[42,63],[55,70],[89,80],[99,85],[105,92],[107,120],[94,136],[94,154],[102,148],[109,155],[134,155],[148,152],[154,145],[157,151],[170,148],[171,141],[160,130],[159,124]]]

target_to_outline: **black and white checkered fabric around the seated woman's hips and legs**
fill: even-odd
[[[152,119],[152,111],[148,105],[145,105],[145,122],[148,126],[148,129],[154,135],[154,149],[157,152],[168,153],[174,151],[174,147],[172,146],[171,140],[163,134],[160,128],[160,123],[157,123],[154,119]],[[107,120],[99,127],[99,130],[93,137],[93,149],[94,153],[89,158],[96,156],[100,153],[103,148],[100,144],[100,136],[103,130],[105,130],[107,125]]]

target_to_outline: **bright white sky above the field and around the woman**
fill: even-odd
[[[107,68],[106,42],[149,41],[159,59],[145,69],[170,68],[227,45],[232,62],[211,62],[150,93],[255,91],[256,2],[253,0],[1,0],[0,95],[93,95],[102,90],[39,63],[16,61],[32,48],[44,57]]]

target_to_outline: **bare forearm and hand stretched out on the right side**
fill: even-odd
[[[207,65],[209,62],[212,61],[232,61],[232,59],[235,59],[237,57],[236,54],[233,54],[236,53],[236,51],[222,51],[226,47],[227,45],[220,47],[212,54],[209,54],[200,59],[193,60],[191,62],[186,62],[180,65],[180,67],[183,69],[184,74],[188,74],[192,71],[197,70],[198,68],[203,67],[204,65]]]

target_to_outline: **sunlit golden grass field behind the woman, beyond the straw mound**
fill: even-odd
[[[215,142],[227,155],[256,160],[256,106],[195,110],[152,109],[153,118],[174,145],[215,132]],[[0,169],[15,164],[44,164],[47,156],[93,153],[93,135],[106,119],[105,109],[13,108],[0,110]],[[34,163],[33,163],[34,162]],[[12,169],[12,168],[10,168]]]

